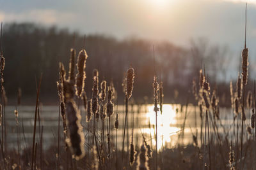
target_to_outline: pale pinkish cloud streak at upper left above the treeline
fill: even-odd
[[[36,22],[41,24],[52,25],[56,22],[67,22],[72,20],[74,15],[56,10],[27,10],[20,13],[9,13],[0,11],[0,20],[4,22]]]

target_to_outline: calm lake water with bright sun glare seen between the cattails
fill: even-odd
[[[152,145],[155,145],[155,131],[154,127],[156,127],[156,113],[153,111],[153,105],[141,105],[141,106],[134,106],[133,108],[129,106],[129,115],[128,115],[128,138],[131,140],[132,134],[132,122],[134,124],[134,143],[141,144],[142,135],[145,136],[146,141],[150,144],[150,134],[152,138]],[[26,137],[27,145],[31,145],[33,141],[33,124],[34,124],[34,115],[35,115],[35,107],[33,106],[20,106],[19,108],[19,132],[20,132],[20,143],[22,147],[24,147],[24,138],[23,138],[23,131],[22,131],[22,122],[24,127],[24,136]],[[7,125],[7,141],[9,147],[17,147],[17,133],[16,133],[16,123],[15,123],[15,115],[14,106],[6,107],[6,125]],[[177,112],[178,111],[178,112]],[[184,125],[184,117],[186,112],[186,106],[181,106],[179,104],[164,104],[163,106],[163,114],[157,113],[157,131],[158,131],[158,139],[157,144],[160,146],[166,146],[168,148],[176,146],[178,143],[182,143],[184,145],[188,145],[189,143],[193,143],[192,135],[196,134],[198,131],[198,143],[200,143],[200,113],[198,108],[192,105],[188,106],[187,111],[187,119],[185,122],[185,129],[184,129],[184,138],[179,138],[180,134],[182,133],[182,127]],[[246,111],[246,125],[250,124],[249,118],[249,111]],[[84,112],[84,108],[81,110],[82,115],[82,125],[84,128],[88,128],[88,123],[85,122],[86,113]],[[134,117],[133,117],[134,116]],[[220,110],[220,117],[221,120],[217,121],[219,132],[223,134],[224,129],[228,132],[230,125],[233,124],[233,113],[230,109],[222,108]],[[111,126],[113,127],[115,122],[115,113],[111,117]],[[119,120],[119,129],[118,129],[118,148],[122,147],[122,135],[123,135],[123,122],[124,122],[124,106],[118,106],[118,120]],[[52,145],[52,143],[57,143],[58,141],[58,106],[42,106],[40,108],[40,129],[42,129],[42,125],[44,126],[44,148],[47,146]],[[211,120],[210,125],[211,125]],[[106,121],[105,121],[106,122]],[[149,122],[150,122],[150,129],[149,129]],[[239,121],[240,122],[240,121]],[[101,129],[101,120],[99,120],[98,129]],[[38,122],[37,122],[38,125]],[[62,122],[61,125],[61,135],[63,127]],[[105,123],[106,125],[106,123]],[[221,127],[220,125],[223,125]],[[83,128],[83,131],[84,131]],[[39,141],[39,134],[38,134],[38,127],[37,127],[37,140]],[[204,122],[203,122],[203,129],[204,129]],[[213,132],[213,129],[211,129]],[[1,133],[1,131],[0,131]],[[105,132],[107,134],[107,132]],[[116,134],[116,131],[113,129],[111,131],[111,135]],[[90,143],[87,139],[87,131],[84,131],[84,135],[86,135],[86,143]],[[99,134],[100,135],[100,134]],[[89,134],[90,136],[90,134]],[[126,136],[125,136],[126,137]],[[107,137],[105,137],[105,140]],[[112,139],[114,142],[115,140]],[[115,144],[115,143],[113,143]]]

